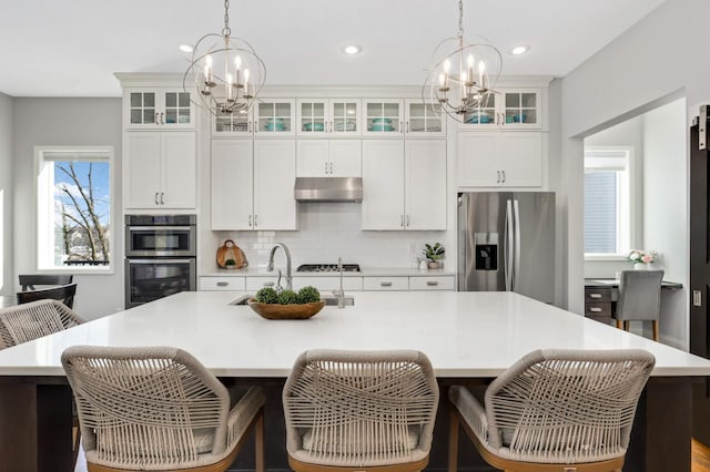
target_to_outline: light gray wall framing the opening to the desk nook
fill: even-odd
[[[710,99],[710,62],[699,60],[708,18],[710,2],[667,0],[562,79],[560,198],[568,208],[565,280],[572,311],[584,309],[581,138],[683,95],[688,115],[697,114]]]

